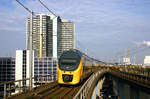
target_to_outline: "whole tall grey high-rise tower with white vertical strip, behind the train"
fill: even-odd
[[[33,17],[33,31],[30,34],[30,19],[27,20],[27,50],[37,57],[59,57],[64,50],[74,48],[74,23],[61,20],[59,16],[38,14]]]

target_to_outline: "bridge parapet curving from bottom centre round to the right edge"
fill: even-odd
[[[106,73],[118,76],[121,79],[140,85],[143,88],[150,89],[150,68],[143,68],[141,66],[106,67],[93,73],[75,95],[74,99],[90,99],[91,92],[93,92],[93,87],[95,87],[96,82]]]

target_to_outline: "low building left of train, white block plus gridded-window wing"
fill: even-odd
[[[15,80],[26,79],[30,77],[29,63],[29,50],[16,51],[16,67],[15,67]],[[57,79],[57,60],[51,57],[35,57],[34,51],[32,53],[32,77],[33,85],[41,83],[48,83]],[[19,83],[18,83],[19,84]],[[16,83],[17,85],[17,83]],[[23,81],[21,86],[29,86],[29,81]]]

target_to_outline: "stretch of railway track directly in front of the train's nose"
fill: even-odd
[[[51,87],[52,89],[36,94],[33,99],[72,99],[81,86],[60,86],[57,84]]]

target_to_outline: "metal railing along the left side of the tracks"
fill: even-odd
[[[36,83],[35,87],[37,87],[38,79],[44,78],[44,77],[45,78],[52,77],[52,76],[56,76],[56,74],[32,77],[32,80],[34,80],[32,85],[34,83]],[[23,82],[26,83],[26,86],[24,86]],[[30,78],[0,83],[0,87],[4,89],[3,91],[0,92],[0,95],[2,95],[2,97],[0,97],[0,98],[6,98],[8,96],[11,96],[12,94],[19,94],[19,93],[22,93],[22,92],[26,92],[30,88],[29,87],[29,82],[30,82]]]

